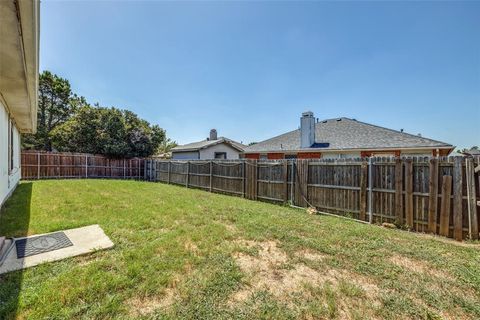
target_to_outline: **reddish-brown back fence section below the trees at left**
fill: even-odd
[[[22,179],[144,179],[145,159],[109,159],[87,153],[22,151]]]

